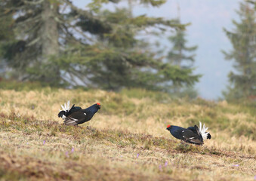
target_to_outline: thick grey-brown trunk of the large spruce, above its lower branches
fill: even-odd
[[[58,8],[49,0],[43,2],[42,9],[42,57],[47,59],[48,56],[59,53],[58,43],[58,25],[54,17],[57,16]]]

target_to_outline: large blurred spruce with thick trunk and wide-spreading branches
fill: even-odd
[[[194,84],[199,75],[163,63],[142,48],[136,35],[147,27],[184,29],[161,17],[134,17],[131,10],[102,10],[91,1],[86,10],[69,0],[3,0],[2,16],[14,14],[16,41],[5,58],[22,80],[82,84],[118,90],[122,87],[162,89],[163,83]],[[165,1],[138,1],[153,6]]]

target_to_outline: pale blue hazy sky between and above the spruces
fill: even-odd
[[[85,1],[74,0],[79,8],[85,8]],[[236,14],[239,0],[168,0],[159,8],[134,5],[134,14],[147,14],[153,17],[171,19],[177,17],[177,5],[180,7],[182,23],[192,23],[187,27],[188,45],[198,45],[196,51],[196,73],[202,74],[196,89],[199,96],[206,99],[221,97],[221,91],[228,84],[227,74],[232,69],[232,62],[224,60],[221,50],[232,48],[230,41],[224,34],[223,28],[233,29],[233,19],[238,20]],[[124,5],[124,4],[121,4]],[[163,38],[160,41],[171,47]]]

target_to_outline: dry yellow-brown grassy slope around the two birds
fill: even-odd
[[[80,127],[65,127],[57,113],[66,100],[102,109]],[[199,121],[212,136],[204,146],[180,143],[165,130]],[[0,90],[0,178],[253,180],[255,130],[253,107],[226,102],[144,90]]]

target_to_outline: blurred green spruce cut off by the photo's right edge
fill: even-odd
[[[233,50],[223,51],[227,60],[233,61],[228,75],[230,86],[224,91],[227,100],[237,100],[256,95],[256,22],[255,11],[247,2],[240,3],[240,21],[233,20],[235,29],[224,29]]]

